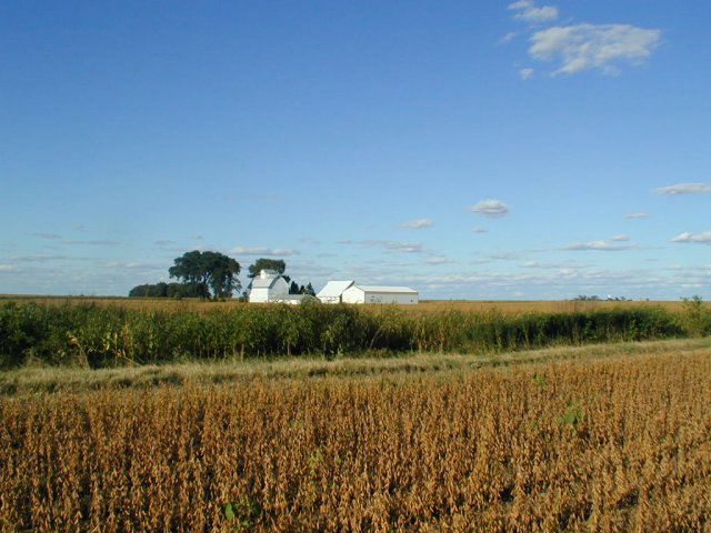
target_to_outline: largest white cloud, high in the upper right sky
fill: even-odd
[[[531,41],[529,53],[533,59],[561,61],[553,74],[591,69],[614,73],[621,62],[638,64],[649,58],[661,41],[661,30],[630,24],[581,23],[537,31]]]

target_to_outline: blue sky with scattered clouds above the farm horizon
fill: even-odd
[[[0,293],[711,299],[711,3],[0,4]]]

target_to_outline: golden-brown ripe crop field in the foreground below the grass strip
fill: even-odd
[[[0,531],[711,531],[684,346],[0,396]]]

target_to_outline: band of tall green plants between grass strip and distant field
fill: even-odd
[[[0,369],[38,361],[102,368],[274,355],[483,353],[710,334],[711,312],[702,306],[697,311],[694,321],[684,322],[658,306],[413,313],[397,306],[342,304],[242,304],[197,311],[8,301],[0,304]]]

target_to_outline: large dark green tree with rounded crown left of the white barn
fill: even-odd
[[[176,259],[176,265],[168,270],[171,278],[194,286],[200,298],[210,298],[210,289],[216,299],[230,298],[242,285],[237,278],[240,263],[219,252],[193,250]]]

